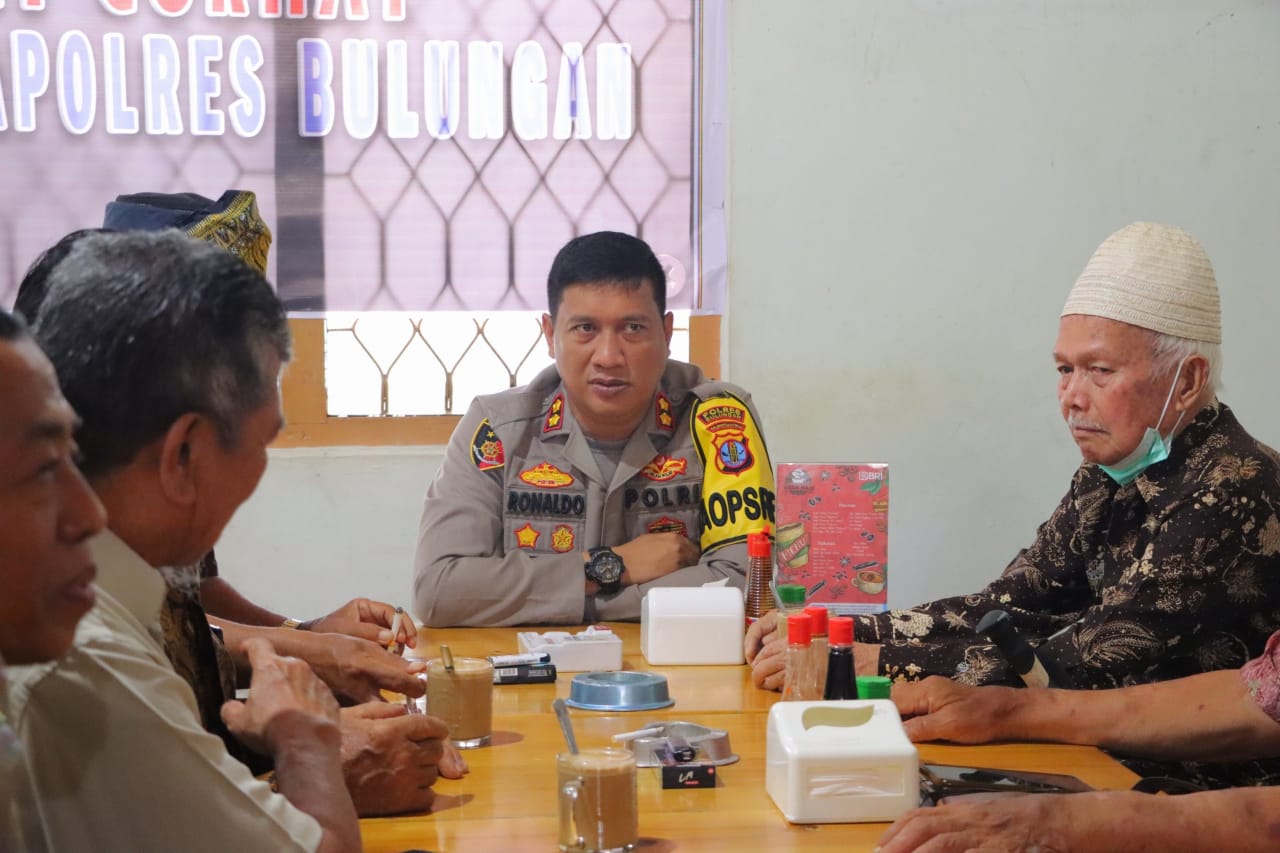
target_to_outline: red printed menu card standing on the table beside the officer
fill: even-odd
[[[776,576],[835,613],[888,607],[888,465],[778,465]]]

